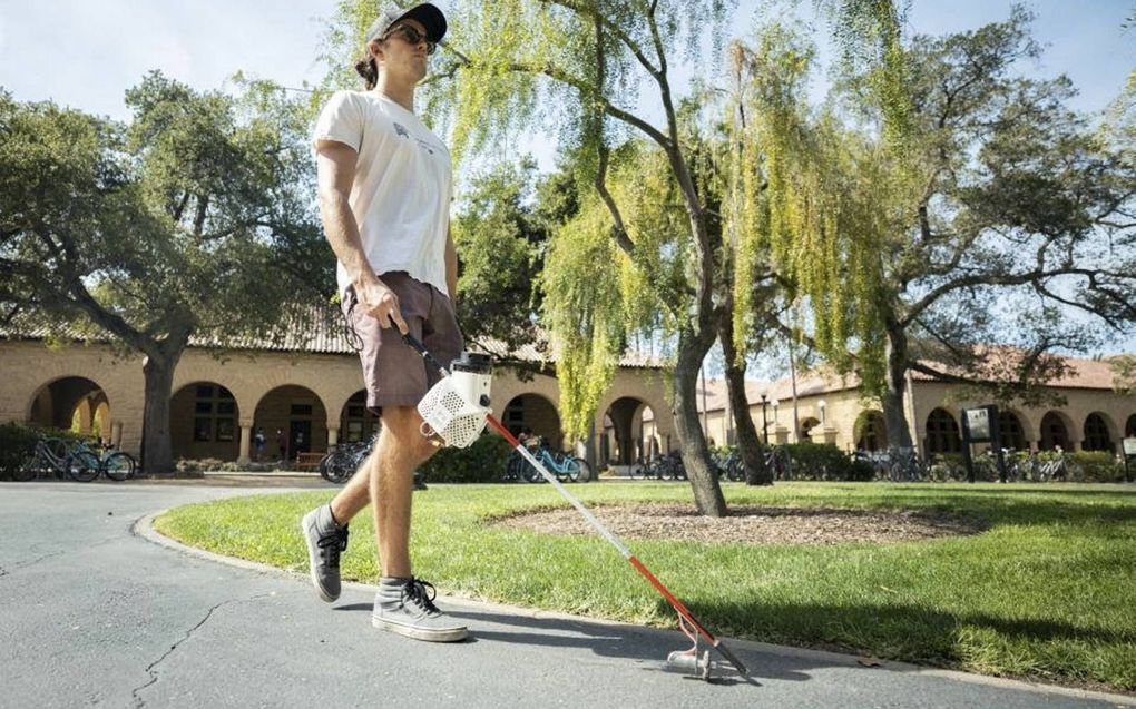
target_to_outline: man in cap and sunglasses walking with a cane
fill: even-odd
[[[436,450],[419,431],[415,406],[438,374],[400,331],[421,339],[442,362],[462,348],[453,306],[450,154],[414,113],[415,86],[445,29],[433,5],[382,11],[356,65],[367,90],[335,93],[316,125],[324,230],[339,260],[344,313],[361,343],[367,406],[382,416],[382,430],[358,473],[301,524],[312,583],[331,602],[340,596],[348,522],[369,503],[383,574],[371,624],[431,641],[468,633],[434,606],[434,586],[411,571],[414,470]]]

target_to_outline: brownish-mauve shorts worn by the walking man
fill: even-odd
[[[378,279],[399,296],[399,310],[410,335],[442,366],[449,368],[465,346],[450,298],[404,271],[379,273]],[[367,408],[381,414],[384,406],[417,406],[442,375],[402,341],[396,327],[379,327],[378,320],[364,312],[353,286],[348,286],[343,294],[343,313],[348,327],[359,336],[354,345],[361,341],[359,360]]]

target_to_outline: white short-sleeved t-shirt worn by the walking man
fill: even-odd
[[[417,116],[377,92],[337,91],[316,121],[315,143],[359,153],[348,199],[376,273],[406,271],[450,295],[445,236],[453,168],[450,151]],[[340,292],[351,284],[343,263]]]

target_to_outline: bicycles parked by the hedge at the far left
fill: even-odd
[[[12,475],[26,482],[40,478],[70,478],[78,482],[91,482],[100,475],[122,482],[134,476],[137,462],[128,453],[115,450],[114,446],[97,446],[85,440],[62,438],[39,438],[24,455],[19,469]]]

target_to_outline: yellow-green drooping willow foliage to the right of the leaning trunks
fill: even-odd
[[[910,184],[892,153],[812,115],[803,87],[812,47],[782,26],[765,27],[751,49],[735,44],[736,86],[728,124],[734,146],[727,230],[736,245],[736,346],[754,327],[751,284],[774,268],[820,353],[849,369],[850,346],[869,391],[884,383],[880,255],[902,231],[896,209]]]

